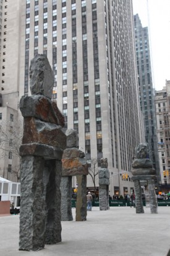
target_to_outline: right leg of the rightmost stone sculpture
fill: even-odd
[[[148,190],[150,193],[150,211],[151,213],[158,213],[158,202],[156,199],[154,180],[148,180]]]

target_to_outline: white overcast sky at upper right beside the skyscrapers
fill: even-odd
[[[133,6],[142,26],[150,29],[153,83],[163,89],[170,80],[170,0],[133,0]]]

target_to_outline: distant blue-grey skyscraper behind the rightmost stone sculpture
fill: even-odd
[[[151,73],[150,42],[148,27],[142,27],[138,14],[134,16],[135,48],[137,55],[140,109],[143,112],[145,140],[148,143],[150,158],[159,177],[159,160],[156,137],[155,89]],[[159,183],[159,178],[158,178]]]

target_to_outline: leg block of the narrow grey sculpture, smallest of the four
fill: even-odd
[[[100,211],[109,209],[109,188],[108,185],[99,186],[99,205]]]

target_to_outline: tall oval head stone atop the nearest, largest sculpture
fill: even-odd
[[[30,90],[32,94],[42,94],[51,99],[54,74],[46,55],[37,54],[30,63]]]

